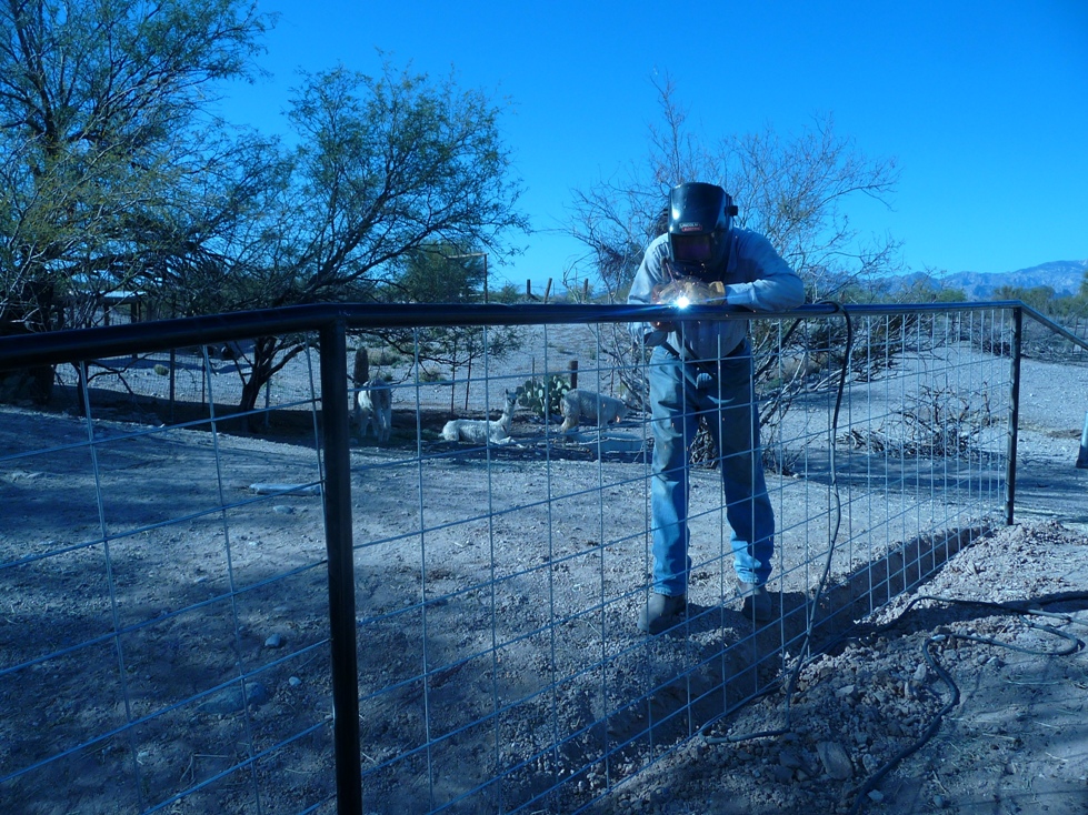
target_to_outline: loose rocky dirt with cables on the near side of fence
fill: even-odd
[[[618,811],[1088,812],[1086,578],[1082,531],[1002,529],[812,660],[795,694],[621,787]]]

